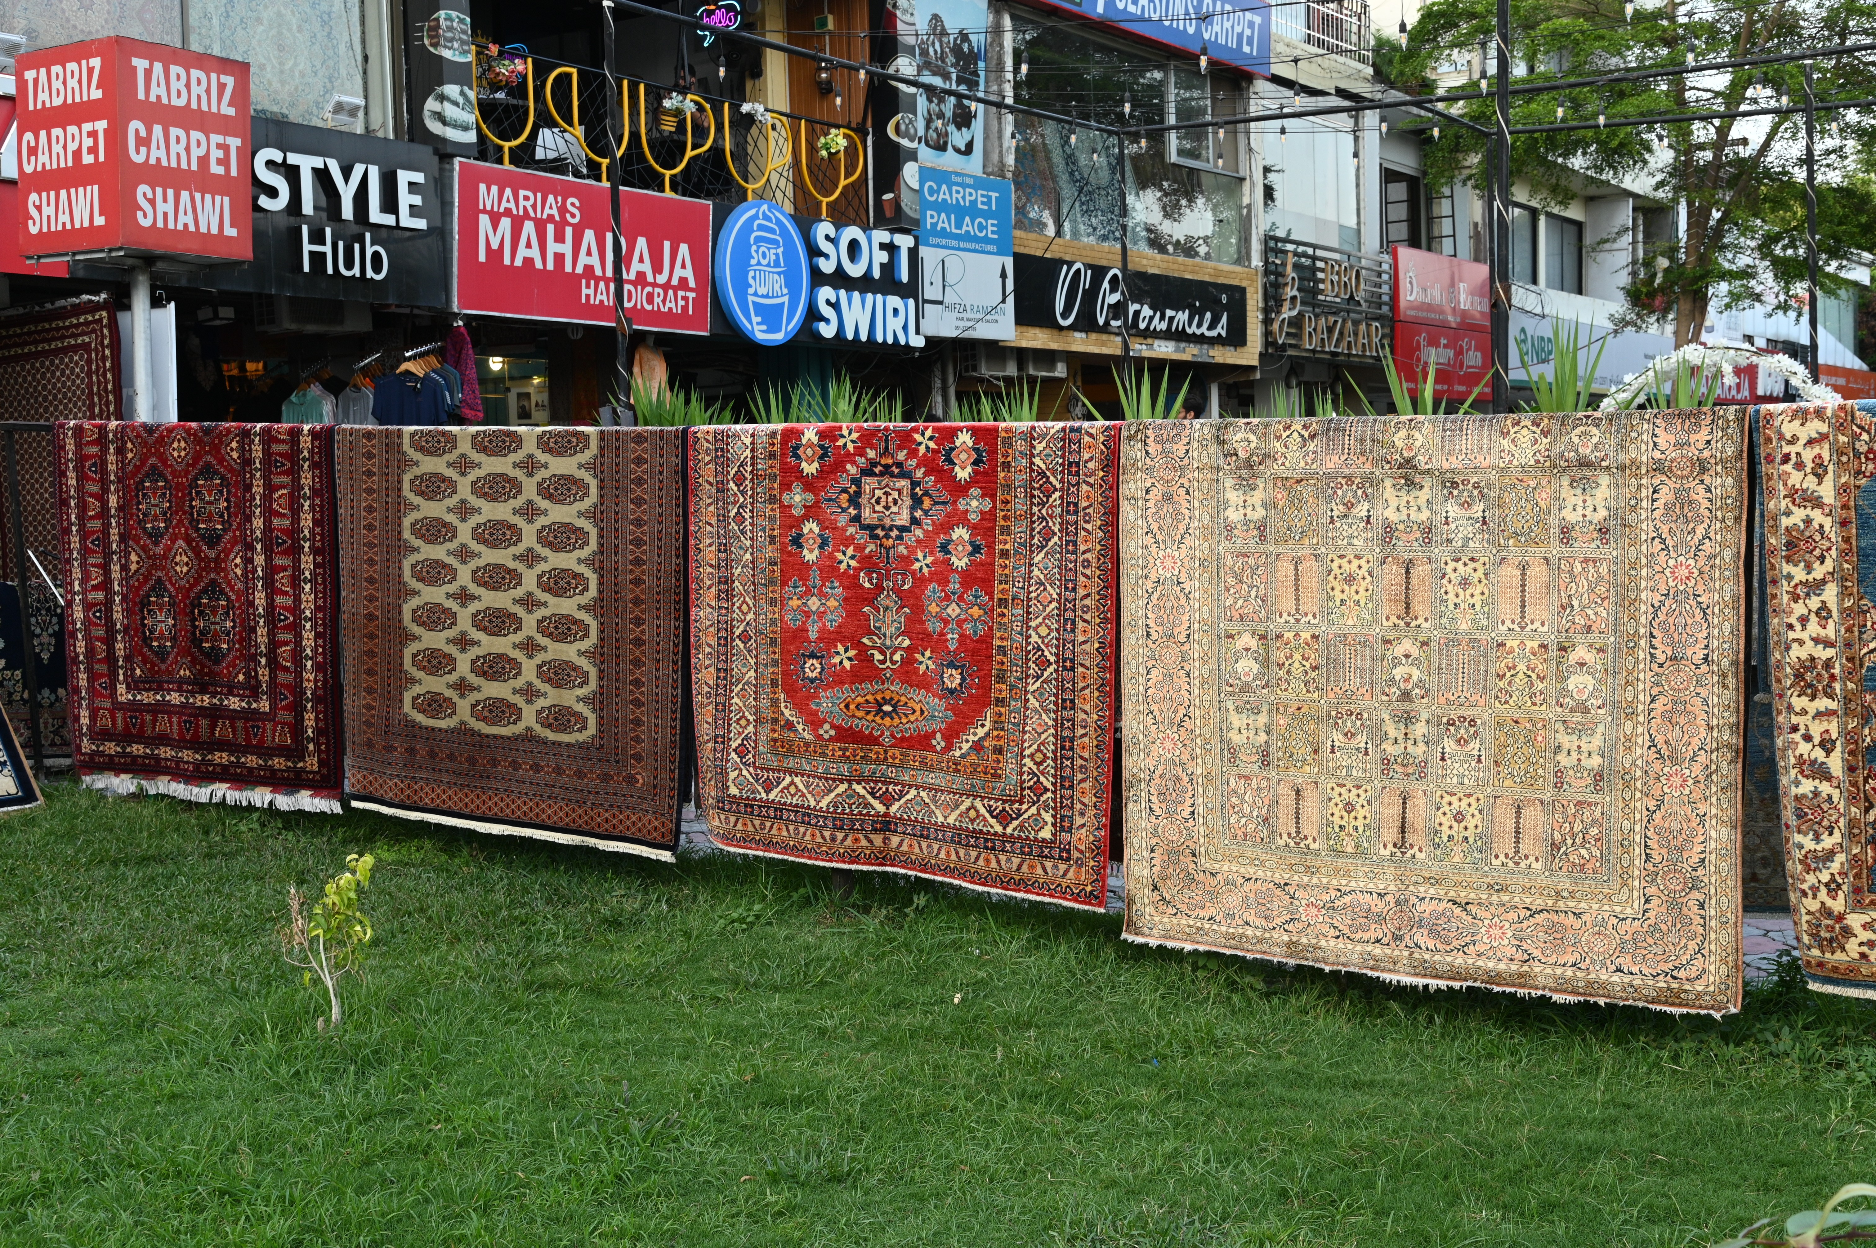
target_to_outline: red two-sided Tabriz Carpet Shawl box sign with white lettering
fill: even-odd
[[[109,36],[24,53],[23,255],[253,259],[248,66]]]

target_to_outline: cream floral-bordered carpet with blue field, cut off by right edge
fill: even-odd
[[[1771,708],[1805,978],[1876,997],[1876,403],[1758,409]]]

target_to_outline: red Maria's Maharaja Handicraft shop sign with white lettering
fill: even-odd
[[[456,310],[612,325],[606,186],[456,161]],[[619,191],[625,313],[709,334],[709,203]]]

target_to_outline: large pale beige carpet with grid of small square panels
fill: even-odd
[[[1127,938],[1737,1008],[1737,434],[1152,422],[1122,482]]]

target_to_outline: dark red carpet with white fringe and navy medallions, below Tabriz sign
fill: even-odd
[[[60,422],[84,783],[340,809],[332,430]]]

